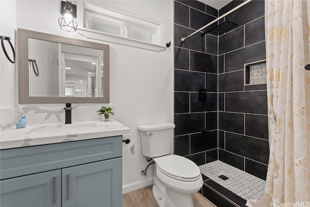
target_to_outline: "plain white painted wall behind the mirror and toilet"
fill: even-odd
[[[101,4],[107,2],[144,16],[165,21],[165,43],[171,41],[171,45],[173,45],[172,0],[92,2]],[[3,31],[14,37],[16,28],[22,28],[95,41],[79,35],[78,32],[65,32],[59,28],[57,20],[60,15],[60,4],[60,0],[0,0],[1,35]],[[7,18],[4,16],[5,14],[13,17]],[[101,43],[110,45],[110,105],[114,106],[115,116],[113,119],[129,127],[135,139],[134,155],[129,149],[123,150],[124,193],[152,183],[153,167],[148,169],[149,180],[140,175],[141,170],[145,169],[149,162],[141,154],[140,134],[137,126],[160,122],[173,123],[173,47],[155,52],[109,42]],[[13,108],[15,100],[14,66],[2,56],[4,55],[1,52],[0,107],[1,109]]]

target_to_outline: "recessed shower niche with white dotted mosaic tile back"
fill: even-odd
[[[244,84],[258,85],[267,83],[266,60],[244,64]]]

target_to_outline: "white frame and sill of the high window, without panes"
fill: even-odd
[[[111,4],[106,4],[104,7],[92,4],[90,2],[85,1],[77,1],[77,20],[78,20],[78,29],[77,32],[87,38],[96,39],[101,41],[107,41],[112,43],[118,43],[122,45],[150,49],[154,51],[165,50],[166,46],[164,46],[164,28],[165,22],[151,18],[149,16],[143,16],[140,14],[136,14],[123,8],[116,7]],[[113,14],[118,13],[118,17],[112,17],[116,21],[123,21],[123,31],[121,32],[121,36],[110,34],[107,32],[100,32],[96,30],[91,30],[88,28],[84,28],[84,14],[85,10],[91,11],[90,13],[103,14],[103,19],[109,18],[105,17],[105,15],[113,16]],[[90,14],[88,13],[88,14]],[[106,13],[106,14],[104,14]],[[95,16],[96,14],[92,14]],[[127,35],[127,27],[133,27],[134,29],[139,29],[146,32],[151,32],[152,41],[144,42],[137,39],[132,39],[126,37]]]

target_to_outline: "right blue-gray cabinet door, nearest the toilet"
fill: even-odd
[[[62,169],[62,207],[121,207],[122,158]]]

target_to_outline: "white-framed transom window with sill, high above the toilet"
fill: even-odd
[[[114,5],[77,1],[77,32],[87,38],[154,51],[165,50],[164,22]]]

